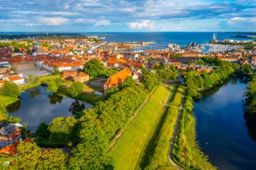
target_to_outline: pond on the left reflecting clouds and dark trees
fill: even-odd
[[[40,122],[50,124],[54,118],[72,116],[69,107],[75,99],[47,92],[46,87],[28,89],[20,97],[20,101],[9,105],[7,111],[9,116],[21,118],[21,124],[26,123],[27,128],[33,132]],[[92,108],[90,103],[84,104],[86,109]]]

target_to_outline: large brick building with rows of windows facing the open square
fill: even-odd
[[[34,60],[32,58],[12,58],[11,67],[16,68],[18,71],[34,69]]]

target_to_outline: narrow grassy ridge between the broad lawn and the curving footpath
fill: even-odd
[[[176,169],[168,160],[170,140],[174,132],[174,126],[179,115],[179,107],[182,102],[184,87],[174,87],[168,101],[168,107],[164,110],[164,121],[158,131],[154,144],[149,146],[150,155],[141,160],[141,167],[145,169]],[[147,159],[148,158],[148,159]]]

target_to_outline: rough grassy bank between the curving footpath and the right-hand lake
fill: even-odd
[[[177,136],[172,150],[172,159],[184,169],[217,169],[208,160],[208,157],[200,150],[195,131],[195,117],[191,114],[193,99],[185,97],[183,112],[179,122]]]

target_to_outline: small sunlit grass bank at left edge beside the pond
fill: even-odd
[[[6,120],[8,117],[5,107],[18,100],[18,97],[8,97],[0,95],[0,121]]]

